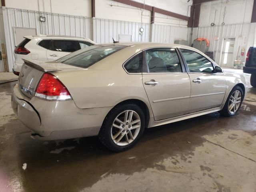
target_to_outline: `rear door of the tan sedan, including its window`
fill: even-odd
[[[174,48],[146,50],[148,73],[142,82],[156,121],[187,113],[190,98],[190,79],[182,72]]]

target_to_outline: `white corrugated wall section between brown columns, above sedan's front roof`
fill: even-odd
[[[152,24],[152,42],[174,43],[174,40],[187,40],[188,28]]]

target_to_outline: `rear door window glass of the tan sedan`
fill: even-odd
[[[174,48],[146,50],[146,61],[150,73],[182,72],[180,60]]]

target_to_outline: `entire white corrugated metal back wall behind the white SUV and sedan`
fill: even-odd
[[[44,16],[46,21],[40,22],[40,16]],[[152,33],[150,34],[150,24],[145,23],[42,13],[13,8],[3,8],[3,17],[9,70],[14,64],[14,27],[36,28],[38,34],[90,38],[96,43],[112,42],[112,37],[114,40],[118,40],[119,34],[132,35],[132,41],[136,42],[149,42],[152,39],[152,42],[174,43],[176,39],[186,40],[188,32],[188,29],[184,27],[152,24]],[[144,28],[142,33],[140,33],[141,27]]]

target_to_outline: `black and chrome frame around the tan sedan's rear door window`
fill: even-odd
[[[162,50],[174,49],[176,51],[176,54],[180,61],[181,72],[157,72],[157,73],[149,72],[147,58],[146,58],[146,51],[154,50],[154,49],[162,49]],[[177,47],[154,47],[154,48],[147,48],[147,49],[143,50],[142,74],[183,74],[183,73],[186,73],[186,68],[185,68],[184,62],[182,60],[182,57],[181,57],[180,52],[178,51]]]

